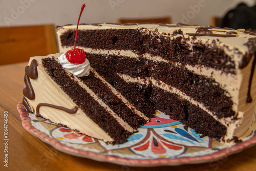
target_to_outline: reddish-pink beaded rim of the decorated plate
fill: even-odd
[[[66,153],[72,156],[88,158],[99,162],[109,162],[118,165],[125,165],[125,166],[132,166],[132,167],[152,167],[152,166],[178,166],[183,164],[199,164],[199,163],[207,163],[220,160],[224,157],[236,154],[241,152],[245,148],[249,148],[254,146],[256,143],[256,135],[254,134],[253,137],[250,139],[234,144],[230,147],[220,149],[219,151],[207,154],[203,156],[193,156],[193,157],[180,157],[180,158],[158,158],[158,159],[131,159],[119,156],[112,156],[112,155],[102,155],[97,152],[91,151],[84,151],[81,149],[76,149],[71,146],[67,146],[61,143],[60,140],[55,139],[54,137],[50,137],[44,132],[39,131],[36,129],[32,123],[31,118],[20,101],[17,104],[17,110],[20,114],[20,118],[22,119],[22,126],[23,128],[30,133],[31,135],[39,138],[42,142],[47,143],[57,149],[62,153]],[[256,131],[255,131],[256,132]],[[228,151],[228,153],[227,153]]]

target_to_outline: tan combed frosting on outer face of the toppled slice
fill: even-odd
[[[58,57],[60,54],[49,55]],[[68,95],[62,92],[58,85],[50,78],[45,72],[41,64],[41,59],[44,57],[31,57],[30,62],[35,59],[38,62],[37,71],[38,78],[30,79],[32,87],[35,92],[35,99],[28,100],[30,106],[33,109],[33,113],[36,112],[36,106],[39,103],[49,103],[58,106],[65,106],[65,108],[73,109],[76,104],[70,100]],[[41,106],[39,109],[40,115],[45,119],[49,119],[54,123],[61,123],[68,126],[72,130],[79,130],[80,133],[89,135],[94,138],[102,139],[105,142],[113,141],[113,139],[105,133],[94,121],[92,121],[81,109],[78,109],[76,114],[69,114],[62,110],[50,108],[48,106]],[[84,124],[86,123],[86,124]]]

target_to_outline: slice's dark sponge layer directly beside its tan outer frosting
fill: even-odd
[[[127,141],[127,138],[132,133],[126,131],[108,111],[106,111],[86,90],[80,87],[79,84],[69,76],[68,72],[62,68],[60,63],[54,58],[44,58],[42,59],[42,65],[62,91],[65,92],[89,118],[98,124],[102,130],[108,133],[114,139],[114,143],[124,143]]]

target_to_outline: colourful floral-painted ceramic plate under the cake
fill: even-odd
[[[22,102],[17,105],[22,125],[30,134],[63,153],[125,166],[163,166],[211,162],[238,153],[256,143],[253,130],[244,142],[228,145],[208,137],[200,138],[193,129],[169,119],[161,112],[141,126],[123,144],[105,144],[65,126],[29,114]]]

